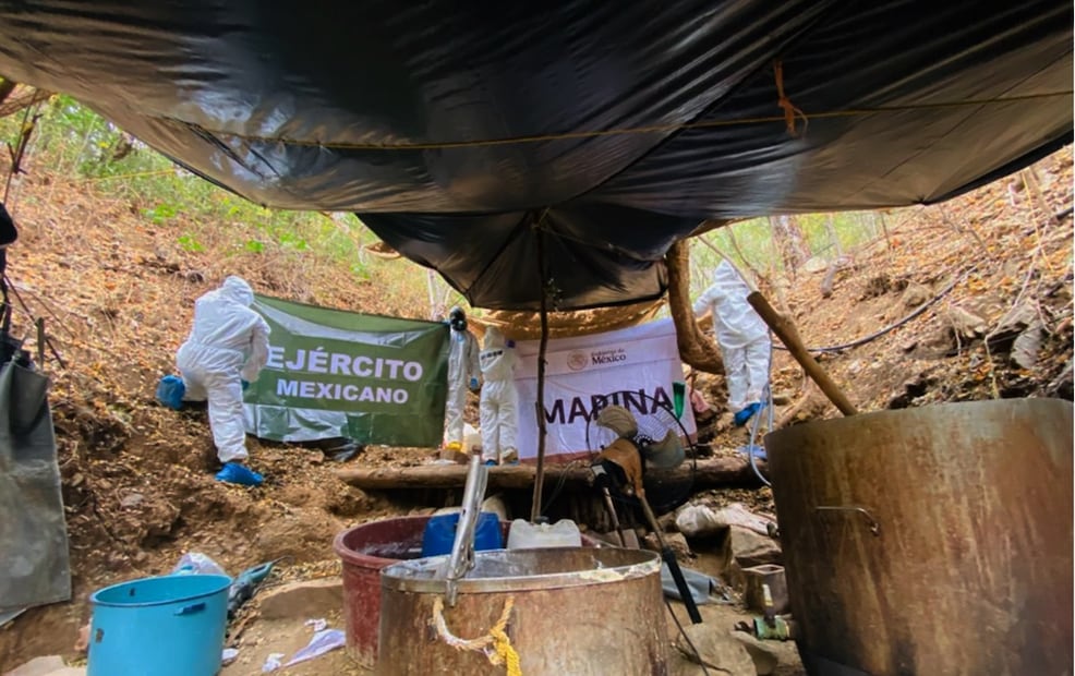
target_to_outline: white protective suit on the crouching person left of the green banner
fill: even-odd
[[[194,326],[176,364],[190,401],[208,400],[209,427],[221,462],[246,459],[242,381],[253,383],[268,359],[269,327],[250,309],[254,291],[228,277],[194,303]]]

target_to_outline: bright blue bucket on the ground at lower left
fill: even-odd
[[[94,592],[87,676],[217,674],[230,584],[222,575],[174,575]]]

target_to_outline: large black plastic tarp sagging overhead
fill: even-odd
[[[538,307],[542,232],[566,310],[659,297],[704,219],[941,201],[1067,143],[1072,4],[0,0],[0,73],[353,210],[478,306]]]

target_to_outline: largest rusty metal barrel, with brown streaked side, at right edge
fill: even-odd
[[[1072,410],[950,403],[765,437],[811,676],[1071,673]]]

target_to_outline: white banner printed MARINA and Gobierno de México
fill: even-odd
[[[519,389],[519,457],[538,456],[538,340],[516,346]],[[654,402],[672,408],[672,383],[683,381],[672,319],[605,334],[549,340],[545,352],[545,459],[566,461],[587,448],[587,421],[595,405],[648,413]],[[679,421],[696,432],[689,400]],[[595,431],[591,430],[591,440]],[[557,458],[559,456],[559,458]]]

